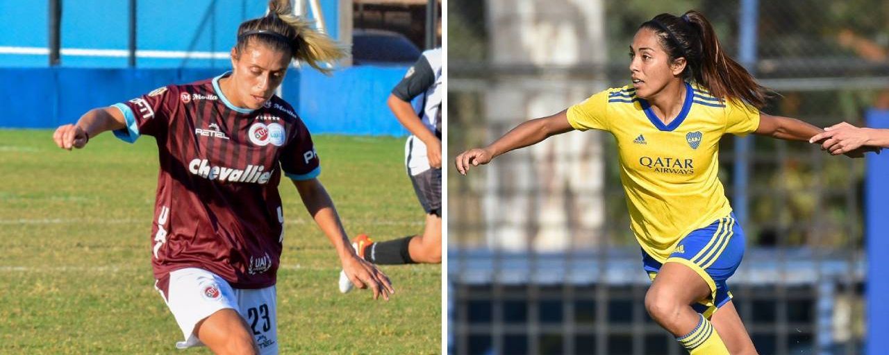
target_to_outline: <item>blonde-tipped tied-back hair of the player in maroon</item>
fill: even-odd
[[[288,51],[292,59],[329,74],[332,69],[322,63],[346,57],[348,49],[312,25],[312,21],[293,15],[290,0],[271,0],[268,15],[246,20],[237,28],[235,51],[242,53],[250,41],[255,41],[276,51]]]

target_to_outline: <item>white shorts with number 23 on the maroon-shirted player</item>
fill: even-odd
[[[231,288],[226,280],[204,269],[186,268],[170,272],[167,292],[155,288],[170,307],[185,341],[179,349],[203,346],[194,333],[197,322],[214,312],[230,308],[241,314],[252,331],[261,354],[277,354],[277,306],[275,287],[259,289]]]

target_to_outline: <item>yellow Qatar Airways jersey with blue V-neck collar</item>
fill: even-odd
[[[650,256],[667,260],[677,242],[732,212],[719,182],[719,139],[759,127],[759,111],[685,83],[685,103],[663,124],[630,86],[608,89],[568,108],[575,130],[617,139],[630,229]]]

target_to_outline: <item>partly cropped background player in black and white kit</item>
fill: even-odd
[[[405,165],[414,192],[426,212],[422,234],[372,241],[360,234],[352,241],[358,256],[373,264],[439,264],[442,260],[442,50],[423,51],[388,97],[388,106],[411,136],[404,145]],[[411,105],[420,97],[420,112]],[[340,291],[351,283],[340,274]]]

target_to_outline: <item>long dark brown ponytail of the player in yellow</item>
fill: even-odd
[[[684,80],[707,88],[717,98],[741,100],[761,109],[773,92],[725,54],[716,31],[701,12],[692,10],[681,17],[661,13],[639,28],[657,34],[670,62],[685,58]]]

